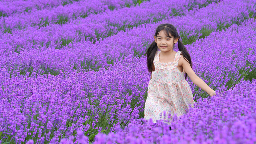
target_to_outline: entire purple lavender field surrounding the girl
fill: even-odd
[[[172,130],[144,119],[163,23],[217,92],[188,77]],[[256,144],[256,0],[0,0],[0,39],[1,144]]]

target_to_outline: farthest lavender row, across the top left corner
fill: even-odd
[[[69,19],[82,17],[85,18],[90,14],[97,14],[104,11],[109,12],[110,10],[119,9],[123,7],[131,7],[137,4],[133,0],[77,0],[75,2],[73,0],[68,1],[70,4],[67,4],[67,1],[54,1],[57,3],[62,3],[62,5],[58,5],[57,7],[51,9],[42,9],[38,10],[39,6],[37,3],[41,3],[38,1],[31,1],[31,3],[26,2],[25,4],[36,5],[37,9],[32,9],[27,7],[25,11],[31,9],[31,12],[24,13],[15,13],[10,16],[5,14],[4,10],[0,9],[2,12],[2,16],[0,19],[1,25],[0,27],[4,29],[4,32],[12,33],[12,30],[15,28],[22,29],[29,26],[36,26],[40,28],[42,26],[49,26],[50,23],[56,24],[65,24],[69,21]],[[144,0],[142,0],[144,1]],[[23,2],[23,1],[21,1]],[[47,5],[51,5],[52,1],[48,1]],[[74,3],[73,3],[74,2]],[[16,2],[13,2],[17,4]],[[24,3],[24,2],[23,2]],[[12,4],[8,4],[13,6]],[[19,7],[24,7],[18,3]],[[5,3],[2,3],[3,8],[5,9]],[[15,7],[17,8],[17,7]],[[8,9],[10,10],[10,9]],[[9,12],[10,13],[10,12]]]

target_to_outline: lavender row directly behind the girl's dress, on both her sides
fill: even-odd
[[[235,78],[243,74],[237,72],[238,68],[255,68],[255,27],[255,20],[250,19],[239,27],[233,24],[226,32],[214,32],[187,45],[195,72],[200,76],[199,72],[208,71],[206,74],[212,74],[210,86],[219,88],[220,80],[223,79],[222,85],[232,80],[230,73]],[[40,144],[76,136],[77,130],[86,132],[91,141],[98,132],[112,132],[119,125],[125,127],[129,121],[142,118],[149,73],[146,56],[133,56],[117,59],[108,70],[65,76],[60,73],[9,78],[10,73],[1,68],[1,141],[21,143],[33,139]],[[213,59],[216,56],[218,60]],[[248,67],[246,62],[250,63]],[[192,91],[198,93],[193,86]]]

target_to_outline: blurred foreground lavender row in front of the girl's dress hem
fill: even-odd
[[[125,130],[96,135],[94,144],[255,144],[255,105],[256,79],[242,81],[223,94],[198,101],[188,113],[174,118],[171,131],[163,120],[139,119]],[[77,135],[80,144],[88,144],[83,132]],[[73,138],[61,139],[60,144],[73,144]]]

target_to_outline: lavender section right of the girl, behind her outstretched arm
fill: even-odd
[[[240,80],[256,78],[255,26],[253,18],[240,26],[234,24],[226,31],[213,32],[207,38],[187,45],[197,75],[209,86],[218,87],[222,91],[228,90]],[[189,84],[194,94],[198,91],[200,96],[208,96],[192,81]]]

